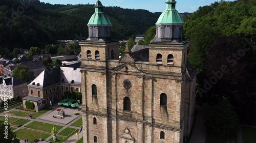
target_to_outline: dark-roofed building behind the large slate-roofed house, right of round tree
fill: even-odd
[[[20,65],[28,67],[29,71],[33,71],[34,77],[37,77],[42,71],[46,69],[42,61],[23,62],[20,63]]]

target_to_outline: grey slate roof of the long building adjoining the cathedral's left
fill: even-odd
[[[55,67],[41,72],[28,86],[45,88],[59,82],[71,83],[72,80],[74,80],[74,84],[81,84],[79,68]]]

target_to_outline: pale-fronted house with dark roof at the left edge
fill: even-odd
[[[0,77],[0,100],[25,97],[28,95],[27,82],[14,77]],[[7,87],[5,87],[7,85]]]

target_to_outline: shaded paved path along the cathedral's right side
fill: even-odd
[[[189,143],[205,143],[206,129],[204,126],[204,116],[205,109],[200,107]]]

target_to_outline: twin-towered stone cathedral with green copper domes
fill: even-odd
[[[126,47],[119,58],[112,23],[96,2],[89,37],[79,43],[84,143],[182,143],[189,136],[197,71],[187,61],[176,1],[165,3],[151,43]]]

